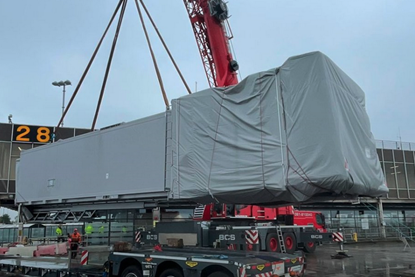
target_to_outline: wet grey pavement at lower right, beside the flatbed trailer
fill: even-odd
[[[306,277],[407,277],[415,276],[415,244],[403,251],[402,242],[346,244],[344,249],[353,256],[332,259],[337,244],[323,245],[307,255]]]

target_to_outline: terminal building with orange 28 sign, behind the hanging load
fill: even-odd
[[[0,123],[1,206],[16,209],[14,207],[16,160],[22,150],[85,134],[89,131],[78,128]],[[397,237],[401,233],[415,238],[415,143],[377,141],[376,144],[377,154],[389,187],[389,194],[386,197],[359,199],[359,201],[353,202],[338,200],[312,203],[297,208],[323,212],[327,227],[333,230],[338,227],[344,228],[346,239],[350,239],[354,232],[362,239]],[[143,213],[145,211],[130,208],[122,213],[108,210],[103,217],[116,218],[117,214],[119,222],[121,219],[119,216],[124,214],[122,226],[128,225],[129,232],[130,229],[132,232],[133,224],[137,225],[136,221],[143,218]],[[170,213],[177,214],[178,212],[171,210]],[[189,211],[185,213],[188,215]],[[105,220],[105,224],[110,224],[109,221]],[[101,225],[98,224],[95,227],[98,228]],[[107,226],[108,233],[109,226]],[[122,226],[117,228],[120,229]],[[348,234],[350,234],[349,237],[347,237]],[[1,235],[2,231],[0,231]]]

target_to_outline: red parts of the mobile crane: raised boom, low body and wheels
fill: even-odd
[[[229,17],[228,8],[223,0],[183,0],[189,14],[193,32],[198,44],[200,56],[204,65],[210,87],[226,87],[238,83],[238,63],[233,59],[230,48],[230,36],[226,26]],[[229,28],[230,30],[230,28]],[[195,219],[201,221],[238,218],[246,221],[246,225],[254,221],[269,222],[285,225],[312,224],[319,232],[326,232],[324,216],[316,212],[294,213],[291,206],[280,208],[266,208],[252,205],[210,204],[195,209]],[[294,227],[296,228],[296,227]],[[297,248],[299,238],[290,229],[283,229],[283,236],[288,250],[293,252]],[[274,235],[272,235],[274,237]],[[279,251],[279,244],[275,238],[268,238],[267,250]],[[307,252],[314,252],[316,244],[313,241],[304,242]]]

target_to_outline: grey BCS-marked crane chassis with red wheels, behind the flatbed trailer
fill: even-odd
[[[213,247],[220,245],[233,250],[287,252],[297,250],[313,253],[321,242],[332,242],[333,233],[320,233],[313,226],[284,226],[272,223],[243,225],[235,221],[217,222],[158,222],[154,231],[143,237],[145,243],[158,243],[158,234],[166,238],[186,237],[193,234],[196,245]],[[180,234],[180,235],[179,235]],[[152,241],[153,240],[153,241]],[[186,244],[186,241],[184,241]]]

